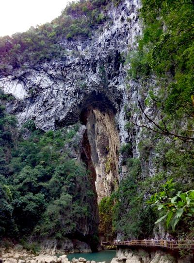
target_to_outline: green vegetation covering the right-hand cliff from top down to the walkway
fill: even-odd
[[[143,0],[140,12],[144,21],[143,36],[139,39],[138,50],[133,53],[129,51],[130,70],[128,78],[140,81],[142,110],[145,106],[152,108],[153,113],[157,113],[159,116],[159,121],[156,121],[156,124],[173,134],[192,137],[194,110],[191,99],[192,94],[194,94],[194,25],[192,22],[194,20],[194,3],[190,0]],[[154,83],[150,81],[150,77],[153,78],[153,76],[156,80]],[[140,109],[136,109],[136,111],[139,115],[144,115]],[[128,118],[131,118],[131,122],[134,123],[132,109],[126,113]],[[150,127],[148,120],[147,123],[140,121],[138,125],[144,127],[138,145],[143,170],[141,176],[134,180],[134,177],[131,178],[130,175],[131,169],[128,168],[130,179],[124,179],[119,186],[120,195],[116,205],[118,212],[115,214],[113,225],[116,231],[122,233],[126,238],[141,237],[140,225],[145,218],[141,218],[141,214],[145,213],[146,207],[148,207],[148,215],[151,216],[151,220],[146,221],[149,231],[145,231],[145,229],[143,231],[146,237],[151,235],[154,220],[160,216],[163,218],[168,216],[167,226],[172,221],[173,230],[178,224],[178,231],[177,233],[174,232],[174,235],[178,234],[179,237],[182,237],[184,234],[191,237],[194,233],[194,221],[191,216],[184,218],[179,216],[182,209],[186,209],[184,205],[180,206],[180,200],[178,204],[169,205],[179,206],[178,212],[176,209],[174,209],[175,211],[172,209],[175,215],[173,211],[168,211],[165,214],[164,209],[159,209],[157,212],[146,201],[157,190],[160,191],[161,185],[170,178],[173,178],[176,183],[173,184],[174,191],[166,197],[169,198],[168,202],[171,202],[169,201],[171,199],[175,201],[175,199],[180,198],[178,195],[173,198],[178,191],[178,193],[186,192],[194,188],[193,143],[188,142],[187,139],[181,140],[182,138],[178,138],[176,135],[167,134],[168,137],[165,137],[165,134],[161,134],[161,130],[156,125],[152,126],[158,131],[156,133],[146,129],[146,127]],[[133,131],[133,125],[129,124],[127,128],[129,132]],[[154,164],[151,177],[149,177],[148,169],[150,158]],[[153,195],[152,199],[154,197],[159,198],[160,193],[163,192]],[[191,195],[193,192],[187,192],[188,198],[190,198],[189,194]],[[182,195],[186,195],[186,193]],[[129,201],[123,205],[127,198]],[[134,208],[130,205],[133,202]],[[152,202],[154,201],[152,200]],[[168,206],[168,202],[166,206]],[[128,206],[129,209],[124,209]],[[163,204],[163,207],[166,206]],[[193,216],[193,202],[190,202],[188,206],[191,207],[188,208],[190,211],[188,213]]]

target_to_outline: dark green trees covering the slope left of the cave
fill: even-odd
[[[5,99],[11,98],[1,94],[1,102]],[[68,235],[83,238],[85,225],[89,240],[97,234],[89,172],[69,150],[77,147],[78,128],[43,132],[29,121],[18,131],[16,118],[1,104],[1,238],[18,240],[32,233],[59,241]]]

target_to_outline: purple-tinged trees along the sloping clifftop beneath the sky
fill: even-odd
[[[0,73],[33,66],[36,63],[63,59],[62,39],[87,37],[109,19],[106,10],[121,0],[81,0],[69,3],[51,23],[31,27],[24,33],[0,38]]]

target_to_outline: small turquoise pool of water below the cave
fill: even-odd
[[[115,257],[116,250],[102,250],[100,252],[94,252],[94,253],[74,253],[74,254],[68,254],[67,258],[69,261],[71,261],[73,258],[79,259],[84,258],[89,261],[96,261],[96,262],[111,262],[111,260]]]

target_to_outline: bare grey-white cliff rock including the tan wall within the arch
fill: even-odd
[[[127,137],[124,57],[129,48],[135,48],[135,38],[141,33],[139,7],[139,0],[121,1],[117,7],[112,4],[107,11],[110,20],[91,39],[61,40],[60,48],[66,51],[61,60],[0,78],[4,92],[16,97],[7,109],[16,114],[20,125],[32,119],[47,131],[76,123],[87,115],[81,120],[91,146],[98,202],[110,195],[119,180],[119,141]]]

